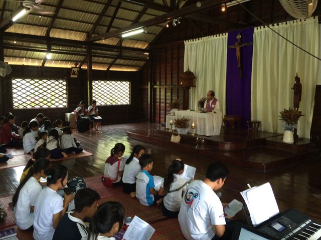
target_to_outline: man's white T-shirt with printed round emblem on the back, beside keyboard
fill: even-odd
[[[181,202],[179,222],[187,239],[210,240],[213,225],[225,225],[223,205],[213,189],[201,180],[192,181]]]

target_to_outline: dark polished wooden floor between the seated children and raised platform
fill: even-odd
[[[66,165],[71,176],[93,176],[101,174],[104,169],[105,159],[110,149],[117,142],[126,146],[125,154],[130,154],[135,144],[142,144],[146,152],[152,154],[154,167],[152,174],[164,176],[171,161],[177,157],[182,158],[187,164],[197,167],[195,178],[202,179],[208,164],[215,161],[213,158],[200,157],[182,150],[173,150],[140,142],[127,137],[127,131],[143,130],[159,127],[151,123],[130,123],[103,126],[103,133],[97,132],[78,133],[75,137],[81,142],[84,149],[93,152],[92,156],[69,159],[60,163]],[[231,201],[236,198],[242,201],[240,191],[250,185],[259,185],[270,182],[276,196],[280,211],[296,208],[315,220],[321,221],[321,159],[301,159],[299,163],[289,167],[273,170],[267,173],[255,172],[227,164],[230,174],[220,189],[223,193],[223,201]],[[6,168],[0,170],[0,195],[13,194],[24,166]]]

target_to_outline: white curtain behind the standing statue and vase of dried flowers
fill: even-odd
[[[317,18],[294,20],[271,27],[303,49],[318,56],[319,26]],[[283,132],[279,111],[293,107],[294,77],[302,84],[298,135],[310,136],[317,82],[318,60],[293,46],[267,27],[254,30],[251,115],[261,121],[261,130]]]

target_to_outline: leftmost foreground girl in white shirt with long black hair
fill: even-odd
[[[12,201],[16,224],[22,230],[34,229],[35,204],[42,190],[38,180],[40,177],[47,177],[46,170],[50,166],[51,162],[46,158],[36,160],[16,190]]]

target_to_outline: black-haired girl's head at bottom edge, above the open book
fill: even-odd
[[[113,235],[124,224],[124,213],[124,206],[120,202],[102,203],[89,223],[88,236],[81,240],[114,240]]]

